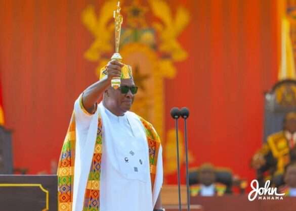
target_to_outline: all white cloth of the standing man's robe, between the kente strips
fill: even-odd
[[[73,211],[81,211],[97,136],[98,114],[103,122],[100,211],[151,211],[162,186],[162,148],[158,151],[154,192],[151,191],[147,138],[138,116],[117,117],[101,102],[88,115],[75,101],[76,154]]]

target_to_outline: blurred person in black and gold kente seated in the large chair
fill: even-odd
[[[296,113],[287,113],[283,121],[283,130],[271,134],[267,142],[252,157],[251,166],[257,170],[262,185],[266,180],[281,185],[285,167],[296,161]],[[279,183],[279,184],[278,184]]]

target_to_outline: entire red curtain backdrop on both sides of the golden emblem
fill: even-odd
[[[176,63],[176,78],[164,81],[165,130],[174,127],[170,109],[188,107],[189,148],[196,160],[191,166],[212,162],[251,180],[250,157],[263,137],[263,93],[276,82],[278,70],[276,1],[167,3],[173,11],[187,8],[191,21],[179,38],[189,56]],[[93,41],[81,23],[89,4],[102,5],[90,0],[0,3],[6,126],[14,130],[15,167],[27,167],[29,173],[50,171],[74,100],[97,80],[97,64],[83,58]],[[174,183],[176,176],[166,181]]]

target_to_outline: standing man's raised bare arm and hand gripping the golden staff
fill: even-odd
[[[104,91],[110,86],[113,77],[121,76],[121,68],[123,64],[112,60],[106,65],[107,77],[97,81],[84,90],[82,95],[82,103],[84,108],[90,113],[95,112],[95,103],[102,96]]]

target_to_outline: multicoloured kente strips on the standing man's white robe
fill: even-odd
[[[153,192],[154,180],[156,176],[157,156],[160,147],[160,139],[153,126],[139,117],[144,128],[149,147],[149,163],[151,188]],[[102,159],[102,119],[99,113],[97,138],[94,148],[94,155],[89,172],[89,178],[84,194],[83,211],[100,210],[100,174]],[[60,160],[58,164],[58,210],[72,211],[73,184],[74,184],[74,164],[75,164],[75,113],[73,112],[70,125],[65,137]]]

